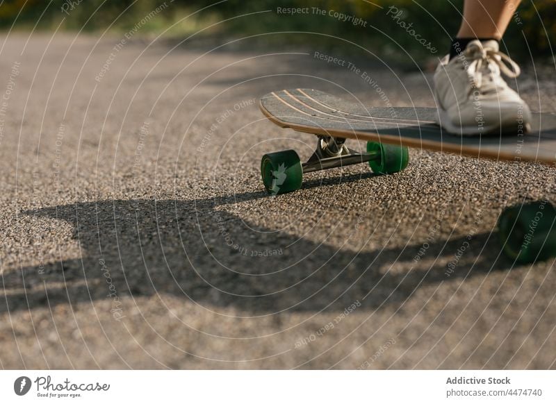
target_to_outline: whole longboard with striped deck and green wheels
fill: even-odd
[[[299,190],[307,172],[344,165],[368,162],[377,174],[397,173],[407,167],[408,147],[475,158],[556,162],[553,113],[533,114],[529,133],[516,120],[514,133],[462,137],[436,125],[435,108],[368,108],[318,90],[271,92],[263,96],[260,106],[278,126],[318,136],[316,151],[304,163],[294,150],[263,155],[261,176],[272,195]],[[347,147],[346,139],[366,141],[366,153]],[[536,226],[533,235],[532,223]],[[514,262],[556,255],[556,207],[546,201],[506,208],[498,219],[498,230],[502,248]]]

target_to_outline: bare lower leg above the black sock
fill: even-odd
[[[500,40],[521,0],[465,0],[457,37]]]

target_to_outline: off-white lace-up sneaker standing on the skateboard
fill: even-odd
[[[474,40],[452,60],[445,56],[434,74],[438,124],[455,135],[529,132],[529,107],[500,71],[511,78],[520,73],[496,41]]]

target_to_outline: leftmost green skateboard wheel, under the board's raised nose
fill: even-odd
[[[299,190],[303,181],[300,156],[293,150],[263,155],[261,176],[266,190],[272,195]]]

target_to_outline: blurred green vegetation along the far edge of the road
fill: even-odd
[[[432,56],[431,47],[438,49],[434,56],[446,51],[459,26],[462,4],[463,0],[4,0],[0,28],[52,30],[60,26],[72,31],[126,32],[140,25],[137,35],[164,32],[169,37],[184,37],[202,31],[196,37],[221,40],[254,35],[245,42],[247,46],[309,45],[354,52],[357,44],[386,54],[406,57],[407,52],[423,58]],[[292,15],[278,12],[278,8],[308,8],[309,12]],[[325,15],[314,12],[315,8]],[[358,17],[361,22],[342,21],[334,12]],[[420,35],[423,43],[430,42],[430,47],[419,44],[415,35]],[[514,58],[551,56],[556,41],[556,1],[523,1],[504,39]]]

